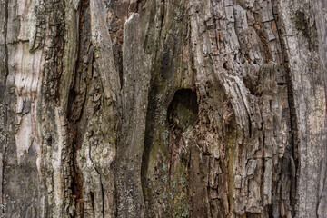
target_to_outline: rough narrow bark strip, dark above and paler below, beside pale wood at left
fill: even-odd
[[[64,72],[64,1],[45,1],[45,65],[41,80],[41,99],[38,117],[42,133],[42,172],[45,183],[45,214],[66,214],[63,164],[64,150],[68,146],[64,108],[60,108],[60,80]],[[41,13],[41,12],[40,12]],[[46,19],[47,18],[47,19]],[[56,122],[53,123],[52,121]],[[67,160],[68,161],[68,160]]]

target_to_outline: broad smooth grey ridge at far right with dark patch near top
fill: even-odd
[[[292,80],[292,114],[296,113],[297,118],[295,142],[298,144],[299,156],[296,172],[296,215],[306,217],[314,214],[317,217],[319,196],[322,192],[319,187],[325,177],[322,171],[325,159],[325,84],[323,62],[315,43],[319,42],[317,32],[321,29],[316,25],[314,2],[293,3],[278,2],[277,5]],[[322,119],[316,119],[315,116]],[[308,134],[310,137],[305,136]]]

